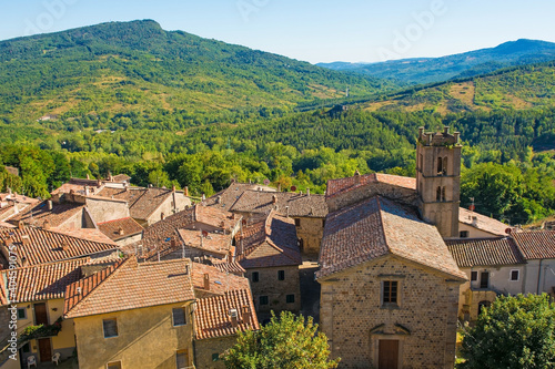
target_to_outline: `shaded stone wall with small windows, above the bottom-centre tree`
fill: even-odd
[[[284,280],[278,279],[279,270],[285,271]],[[252,275],[254,271],[259,273],[259,281],[253,281]],[[246,269],[246,278],[251,283],[254,307],[256,308],[259,320],[262,321],[270,318],[271,310],[275,315],[279,315],[283,310],[299,312],[301,309],[301,287],[297,266]],[[294,303],[286,301],[287,295],[294,295]],[[268,296],[268,305],[260,304],[261,296]]]

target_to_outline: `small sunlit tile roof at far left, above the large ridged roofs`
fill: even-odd
[[[9,223],[18,225],[19,221],[23,221],[26,225],[34,227],[42,227],[44,222],[48,221],[51,227],[60,227],[65,221],[82,213],[84,209],[83,204],[52,204],[52,209],[49,211],[48,202],[43,201],[37,206],[28,206],[23,212],[8,219]]]

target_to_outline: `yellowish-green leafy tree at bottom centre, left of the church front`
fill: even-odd
[[[336,368],[340,359],[329,360],[330,347],[317,332],[312,317],[283,311],[272,312],[270,322],[259,331],[239,332],[238,342],[224,353],[226,368],[293,369]]]

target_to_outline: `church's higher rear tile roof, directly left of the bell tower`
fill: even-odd
[[[398,187],[416,189],[416,178],[404,177],[400,175],[372,173],[327,181],[325,197],[333,197],[371,183],[386,183]]]

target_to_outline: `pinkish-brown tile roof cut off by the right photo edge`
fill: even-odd
[[[555,258],[555,230],[529,230],[512,234],[527,260]]]

